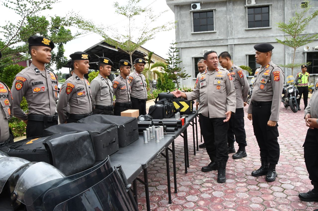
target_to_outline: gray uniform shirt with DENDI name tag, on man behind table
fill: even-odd
[[[112,82],[100,74],[91,81],[92,106],[95,105],[113,105],[114,92]]]

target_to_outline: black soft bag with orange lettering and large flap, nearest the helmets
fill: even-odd
[[[0,150],[30,162],[49,163],[68,176],[86,170],[95,163],[92,139],[90,131],[73,131],[27,138],[4,145]]]

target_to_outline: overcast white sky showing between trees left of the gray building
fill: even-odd
[[[113,25],[114,27],[116,26],[116,28],[122,30],[121,32],[124,32],[127,29],[125,28],[127,25],[127,19],[125,19],[124,16],[115,13],[115,9],[113,7],[114,2],[115,0],[61,0],[59,3],[52,5],[52,10],[46,10],[46,14],[42,14],[48,16],[65,16],[73,10],[83,18],[92,20],[94,23],[96,23],[96,25]],[[118,0],[118,2],[120,5],[122,5],[127,1]],[[155,13],[168,10],[166,13],[164,13],[164,15],[157,19],[156,25],[174,21],[174,14],[167,6],[165,0],[142,0],[140,6],[143,8],[147,6],[151,7]],[[19,17],[15,13],[3,5],[0,6],[0,11],[0,25],[2,26],[5,25],[4,21],[15,23],[17,20],[19,20]],[[142,23],[143,19],[147,19],[147,17],[139,17],[136,20],[137,24],[139,24],[139,22]],[[76,32],[76,29],[70,29],[73,33]],[[103,38],[97,34],[89,33],[85,36],[82,35],[81,37],[67,42],[64,45],[64,55],[67,57],[67,59],[70,59],[69,55],[75,51],[84,51],[85,49],[102,40]],[[167,32],[158,32],[155,39],[147,42],[145,45],[143,45],[143,47],[150,51],[154,51],[155,54],[158,54],[163,58],[167,58],[166,54],[168,53],[170,43],[173,40],[175,40],[174,29]],[[68,68],[63,68],[62,72],[68,72]]]

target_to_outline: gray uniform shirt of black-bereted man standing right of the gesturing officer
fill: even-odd
[[[283,90],[285,75],[272,61],[265,67],[259,67],[254,74],[251,101],[272,101],[271,116],[269,120],[278,122],[281,92]],[[248,106],[248,113],[252,113],[252,105]]]

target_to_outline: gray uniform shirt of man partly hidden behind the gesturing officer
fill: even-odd
[[[244,102],[247,101],[250,85],[242,68],[233,64],[229,72],[231,73],[235,86],[236,108],[243,108]]]

